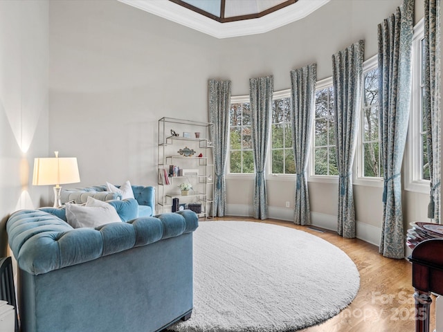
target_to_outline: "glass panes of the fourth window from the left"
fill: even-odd
[[[376,64],[375,61],[372,62]],[[363,74],[359,176],[381,178],[383,177],[383,167],[381,166],[379,135],[379,70],[377,66],[370,67]]]

